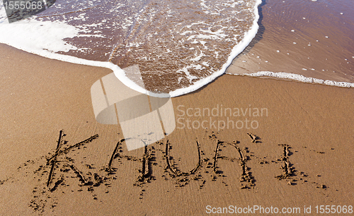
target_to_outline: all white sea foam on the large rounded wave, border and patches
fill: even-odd
[[[244,4],[245,6],[250,4],[251,1],[237,1],[234,4],[230,5],[230,7],[234,8],[235,6],[239,4]],[[125,83],[125,85],[129,86],[130,88],[137,90],[139,92],[147,93],[149,95],[155,95],[158,97],[176,97],[178,95],[183,95],[188,92],[192,92],[194,90],[197,90],[198,88],[201,88],[203,85],[206,85],[207,83],[210,83],[212,80],[217,78],[218,76],[221,76],[231,64],[232,60],[234,57],[236,57],[239,53],[241,53],[251,42],[253,37],[255,37],[257,30],[258,30],[258,5],[261,4],[261,0],[256,0],[253,1],[254,8],[253,8],[253,25],[251,28],[249,28],[248,32],[244,33],[244,37],[240,37],[240,35],[227,35],[227,33],[224,32],[224,29],[227,29],[227,26],[219,26],[219,24],[215,24],[216,28],[219,28],[217,30],[212,30],[213,28],[215,29],[215,26],[210,25],[212,23],[205,23],[204,21],[197,20],[196,22],[190,23],[190,25],[185,25],[182,26],[181,29],[185,29],[185,31],[180,32],[179,34],[182,35],[183,37],[186,37],[186,41],[189,44],[195,44],[197,42],[198,44],[202,44],[204,47],[204,52],[209,52],[210,50],[210,42],[214,40],[215,42],[222,42],[222,40],[225,41],[234,41],[234,40],[239,40],[241,38],[241,41],[238,42],[234,48],[232,49],[232,52],[229,54],[228,58],[225,60],[218,59],[218,61],[224,62],[222,64],[221,69],[215,70],[215,68],[211,68],[210,74],[207,74],[207,76],[202,77],[202,76],[194,76],[190,73],[189,70],[193,71],[202,71],[202,70],[208,70],[210,68],[210,61],[205,61],[205,58],[207,55],[204,54],[203,49],[200,50],[195,50],[195,56],[186,56],[185,59],[189,59],[188,61],[190,64],[186,64],[182,68],[179,68],[179,70],[176,70],[176,74],[184,74],[184,76],[181,76],[178,78],[178,83],[183,80],[184,78],[187,78],[189,80],[188,87],[182,87],[176,90],[173,90],[169,92],[168,95],[166,93],[159,94],[151,91],[147,91],[134,83],[130,78],[128,78],[127,74],[119,67],[117,64],[113,64],[110,61],[95,61],[89,58],[80,58],[78,57],[79,55],[75,56],[75,54],[86,54],[89,52],[95,53],[96,50],[88,50],[86,47],[81,46],[81,44],[76,44],[75,40],[77,41],[78,38],[80,37],[89,37],[89,41],[92,41],[93,37],[101,37],[104,38],[105,35],[102,33],[100,30],[101,26],[105,26],[106,29],[109,28],[114,28],[116,24],[113,23],[113,25],[105,25],[105,23],[108,23],[108,20],[105,18],[100,18],[100,20],[97,20],[97,22],[93,23],[84,23],[81,25],[72,25],[73,20],[84,20],[86,21],[86,8],[94,8],[96,3],[93,5],[89,5],[87,3],[81,2],[80,4],[77,4],[74,6],[74,8],[79,8],[76,10],[76,13],[79,14],[79,16],[76,17],[67,17],[66,11],[68,8],[65,8],[64,5],[59,4],[59,1],[57,1],[57,4],[50,8],[50,10],[57,10],[55,12],[47,12],[50,14],[49,16],[53,16],[57,18],[59,16],[58,20],[48,20],[48,15],[47,14],[38,14],[38,16],[33,16],[32,18],[28,18],[25,20],[20,20],[16,23],[11,23],[8,24],[6,20],[6,13],[4,12],[4,7],[1,6],[0,10],[0,29],[1,29],[1,34],[0,34],[0,42],[4,44],[8,44],[12,47],[16,47],[18,49],[22,49],[25,52],[30,52],[33,54],[38,54],[40,56],[45,56],[50,59],[57,59],[60,61],[67,61],[75,64],[85,64],[89,66],[101,66],[105,68],[110,68],[113,70],[115,73],[115,76],[117,76],[122,83]],[[97,3],[98,4],[98,3]],[[224,4],[224,3],[223,3]],[[80,5],[80,6],[78,6]],[[129,4],[126,4],[125,6],[127,7]],[[201,10],[205,14],[210,14],[210,16],[214,16],[214,14],[217,14],[219,12],[215,12],[215,8],[212,8],[210,6],[210,3],[207,3],[205,1],[202,1],[201,3],[202,8]],[[120,7],[124,6],[123,4],[120,5]],[[84,9],[82,9],[84,8]],[[113,8],[112,8],[113,9]],[[118,9],[118,8],[116,8]],[[121,8],[120,8],[121,9]],[[119,9],[119,10],[120,10]],[[127,8],[125,8],[127,9]],[[129,9],[129,8],[128,8]],[[156,16],[154,13],[154,8],[144,8],[147,12],[152,13],[151,17]],[[198,8],[199,10],[200,8]],[[65,11],[66,10],[66,11]],[[48,10],[49,11],[49,10]],[[112,12],[114,12],[113,10]],[[171,10],[170,10],[171,11]],[[169,11],[169,13],[170,13]],[[232,11],[232,10],[231,10]],[[141,11],[139,11],[140,13]],[[97,13],[97,12],[96,12]],[[232,11],[234,13],[234,11]],[[69,13],[71,14],[71,13]],[[134,15],[134,13],[132,13]],[[157,13],[156,13],[157,14]],[[127,17],[123,20],[121,24],[122,29],[125,28],[130,28],[132,26],[132,17]],[[223,18],[224,19],[224,18]],[[243,21],[243,19],[236,18],[237,20],[240,20],[240,22]],[[149,18],[147,17],[138,17],[137,22],[147,22]],[[227,21],[227,20],[226,20]],[[119,21],[121,22],[121,21]],[[118,23],[119,23],[118,22]],[[220,20],[217,22],[221,22]],[[223,21],[225,22],[225,21]],[[70,24],[68,24],[70,23]],[[177,24],[178,25],[178,24]],[[193,29],[193,26],[197,28]],[[209,27],[208,27],[209,26]],[[219,26],[219,27],[218,27]],[[235,25],[236,27],[236,25]],[[189,31],[188,31],[189,29]],[[173,32],[173,34],[178,33],[178,32]],[[148,35],[149,37],[152,37],[153,35]],[[228,37],[227,37],[228,36]],[[230,36],[234,37],[234,39],[230,38]],[[154,37],[154,36],[153,36]],[[174,36],[173,36],[174,37]],[[182,38],[182,40],[184,40]],[[74,42],[72,42],[74,41]],[[158,40],[156,40],[158,41]],[[92,43],[88,43],[92,44]],[[136,47],[139,48],[142,43],[139,43],[139,41],[133,41],[128,44],[129,47]],[[198,47],[198,44],[195,44],[195,47]],[[207,45],[206,45],[207,44]],[[115,49],[118,49],[117,46],[120,46],[122,44],[116,44],[113,47],[110,48],[111,52],[110,53],[103,53],[100,56],[107,56],[109,58],[114,58],[115,54]],[[123,44],[124,45],[124,44]],[[156,46],[159,47],[159,46]],[[187,46],[188,47],[188,46]],[[132,49],[132,48],[130,48]],[[183,46],[183,49],[186,49],[185,46]],[[193,47],[190,49],[194,49]],[[198,48],[199,49],[199,48]],[[218,50],[218,49],[216,49]],[[231,50],[231,49],[230,49]],[[166,49],[165,53],[171,52],[170,49]],[[66,54],[70,53],[70,54]],[[74,53],[74,54],[73,54]],[[176,51],[172,52],[176,53]],[[215,51],[215,58],[219,58],[219,51]],[[124,56],[124,54],[123,54]],[[149,56],[142,56],[139,57],[138,59],[149,59]],[[199,62],[198,62],[199,61]],[[187,62],[187,61],[185,61]],[[178,72],[179,71],[179,72]],[[197,81],[195,81],[197,80]]]

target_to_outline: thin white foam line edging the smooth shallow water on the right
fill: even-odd
[[[243,73],[243,74],[234,74],[234,73],[227,73],[236,76],[253,76],[253,77],[272,77],[272,78],[282,78],[282,79],[289,79],[289,80],[297,80],[302,83],[318,83],[323,85],[332,85],[337,87],[343,88],[354,88],[354,83],[347,83],[347,82],[336,82],[332,80],[321,80],[317,78],[311,78],[302,76],[296,73],[285,73],[285,72],[270,72],[270,71],[258,71],[257,73]]]

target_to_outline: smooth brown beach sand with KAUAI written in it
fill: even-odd
[[[177,124],[145,154],[127,152],[120,126],[96,122],[91,85],[112,71],[4,44],[0,65],[1,215],[208,215],[208,205],[299,208],[299,215],[311,205],[308,215],[317,215],[316,205],[354,205],[352,88],[224,75],[172,98],[176,121],[227,119],[195,116],[196,108],[263,108],[263,116],[229,116],[253,128]],[[183,116],[188,108],[192,116]],[[59,138],[67,141],[59,150],[74,147],[59,152],[48,184]]]

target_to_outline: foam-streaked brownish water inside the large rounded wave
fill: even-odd
[[[138,65],[147,90],[171,92],[224,73],[249,43],[241,43],[246,33],[253,27],[249,41],[256,34],[256,2],[58,0],[34,20],[75,28],[74,35],[63,35],[71,47],[56,53],[120,68]]]

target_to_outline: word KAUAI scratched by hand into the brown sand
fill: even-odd
[[[70,144],[64,131],[59,131],[56,148],[49,155],[40,157],[37,162],[28,160],[18,167],[18,172],[24,169],[25,176],[33,174],[36,184],[33,188],[33,199],[28,205],[35,212],[55,208],[58,204],[57,197],[62,193],[85,193],[92,196],[93,200],[98,200],[103,194],[111,192],[111,188],[117,184],[115,181],[122,179],[137,186],[134,190],[139,193],[139,199],[149,193],[149,184],[158,179],[164,180],[159,181],[159,184],[174,185],[178,188],[189,185],[191,188],[203,190],[211,181],[217,181],[220,186],[238,184],[240,190],[253,190],[257,187],[257,181],[262,179],[262,176],[253,173],[256,167],[278,167],[280,171],[273,173],[273,179],[290,186],[312,184],[323,190],[329,188],[326,184],[316,182],[316,176],[312,177],[295,169],[292,155],[299,151],[293,150],[290,145],[279,144],[273,155],[260,155],[252,149],[256,145],[263,145],[263,141],[253,133],[247,133],[247,139],[243,141],[220,140],[218,136],[219,132],[206,131],[204,138],[193,140],[195,153],[191,159],[195,165],[185,169],[181,164],[181,157],[178,157],[178,151],[175,150],[176,141],[173,140],[164,139],[154,145],[146,145],[144,150],[137,154],[124,148],[125,139],[122,138],[116,143],[113,152],[103,159],[106,162],[99,162],[101,165],[98,165],[91,161],[95,158],[91,148],[96,148],[94,146],[101,143],[98,134]],[[306,147],[301,151],[304,150],[309,151]],[[310,151],[324,154],[323,151]],[[132,168],[137,172],[127,176],[126,171]],[[0,181],[0,184],[6,181]],[[171,187],[167,185],[165,188],[169,192]]]

